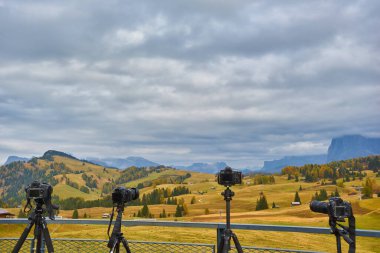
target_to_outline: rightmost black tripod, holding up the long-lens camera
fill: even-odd
[[[352,211],[351,211],[352,213]],[[348,243],[349,249],[348,253],[355,253],[356,245],[355,245],[355,217],[352,215],[348,217],[348,227],[344,226],[342,224],[339,224],[338,221],[344,222],[344,219],[337,219],[335,217],[329,218],[329,225],[331,228],[331,233],[335,235],[336,237],[336,248],[337,253],[342,253],[342,246],[341,246],[341,238]],[[341,227],[342,229],[339,229],[337,226]]]

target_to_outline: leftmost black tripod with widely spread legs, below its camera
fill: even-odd
[[[20,251],[25,239],[28,237],[30,230],[34,227],[34,238],[32,244],[30,245],[31,253],[43,253],[45,252],[45,243],[49,253],[54,252],[53,242],[51,241],[49,230],[45,221],[45,217],[42,215],[45,211],[42,208],[43,203],[38,203],[34,211],[29,215],[29,224],[25,228],[24,232],[21,234],[20,239],[17,241],[16,246],[13,248],[12,253],[17,253]],[[35,240],[37,239],[37,245],[35,246]]]

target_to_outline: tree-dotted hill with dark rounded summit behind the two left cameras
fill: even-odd
[[[184,180],[186,174],[188,172],[165,166],[118,170],[49,150],[39,158],[1,166],[0,194],[2,201],[8,205],[19,205],[25,198],[23,189],[33,180],[39,180],[53,185],[53,195],[60,199],[80,197],[95,200],[109,194],[116,184],[131,185],[130,182],[135,181],[135,187],[141,183],[140,187],[143,188],[144,184],[178,183]]]

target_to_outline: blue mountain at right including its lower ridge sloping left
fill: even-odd
[[[380,154],[380,138],[345,135],[332,139],[326,155],[285,156],[279,160],[265,161],[261,171],[266,173],[278,173],[286,166],[323,164],[378,154]]]

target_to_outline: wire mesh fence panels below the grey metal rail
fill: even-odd
[[[11,252],[16,245],[17,238],[0,238],[0,252]],[[54,252],[72,253],[100,253],[109,252],[108,241],[94,239],[53,239]],[[21,253],[31,252],[32,239],[25,240]],[[216,253],[213,244],[177,243],[177,242],[145,242],[129,241],[129,248],[133,253]],[[120,251],[125,252],[120,245]],[[316,253],[311,251],[286,250],[275,248],[243,247],[244,253]],[[47,252],[45,248],[45,252]],[[231,253],[237,252],[235,249]]]

